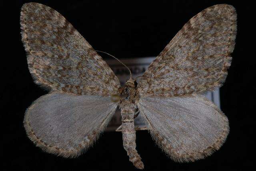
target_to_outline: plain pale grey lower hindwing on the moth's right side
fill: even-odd
[[[174,161],[211,155],[229,132],[228,118],[200,95],[142,97],[138,108],[154,140]]]

